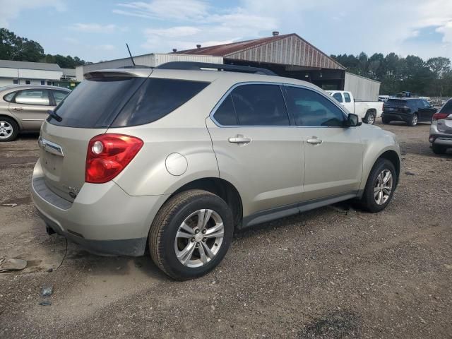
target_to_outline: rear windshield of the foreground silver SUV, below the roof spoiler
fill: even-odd
[[[47,121],[85,129],[109,127],[144,81],[145,78],[101,74],[85,79],[55,109],[63,119],[56,121],[49,116]]]

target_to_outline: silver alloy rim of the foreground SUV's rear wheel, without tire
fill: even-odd
[[[174,251],[182,265],[196,268],[206,265],[220,251],[225,226],[214,210],[191,213],[177,230]]]

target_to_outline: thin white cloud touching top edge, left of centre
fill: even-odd
[[[207,3],[201,0],[136,1],[117,4],[117,7],[121,9],[114,9],[113,13],[161,20],[198,20],[208,13]]]

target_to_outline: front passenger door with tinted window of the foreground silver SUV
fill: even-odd
[[[331,97],[312,88],[285,85],[287,108],[304,143],[303,201],[357,194],[363,146],[357,127]]]

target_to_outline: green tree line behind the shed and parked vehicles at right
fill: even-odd
[[[427,96],[452,96],[452,69],[448,58],[436,57],[422,60],[415,55],[399,57],[396,53],[385,56],[375,53],[368,57],[364,52],[332,55],[333,59],[350,73],[381,81],[380,94],[394,95],[403,90]]]

